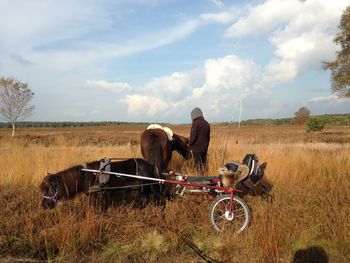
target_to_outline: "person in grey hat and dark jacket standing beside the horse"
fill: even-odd
[[[200,108],[194,108],[192,110],[191,119],[192,127],[188,145],[192,151],[196,168],[201,172],[204,172],[207,168],[210,125],[204,119]]]

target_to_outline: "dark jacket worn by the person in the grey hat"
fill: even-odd
[[[207,152],[210,141],[210,125],[203,118],[193,120],[189,139],[190,149],[194,152]]]

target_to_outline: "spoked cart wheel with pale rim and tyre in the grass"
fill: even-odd
[[[233,196],[230,215],[230,198],[230,195],[223,195],[212,202],[209,209],[209,220],[217,231],[240,233],[248,227],[249,208],[243,199]]]

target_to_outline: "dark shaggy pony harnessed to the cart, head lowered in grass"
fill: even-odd
[[[80,193],[89,195],[90,203],[101,210],[106,210],[112,204],[120,202],[131,201],[145,204],[160,200],[160,186],[157,182],[111,175],[109,182],[101,186],[98,174],[82,171],[84,168],[98,170],[100,161],[77,165],[56,174],[47,175],[40,185],[40,189],[44,193],[42,207],[52,209],[59,201],[73,199]],[[112,162],[111,172],[152,178],[159,177],[157,169],[140,158]],[[95,190],[91,191],[91,189]]]

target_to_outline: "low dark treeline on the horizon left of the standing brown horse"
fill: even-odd
[[[147,122],[126,122],[126,121],[86,121],[86,122],[75,122],[75,121],[22,121],[17,122],[17,128],[64,128],[64,127],[87,127],[87,126],[107,126],[107,125],[147,125]],[[0,122],[0,128],[12,128],[8,122]]]

